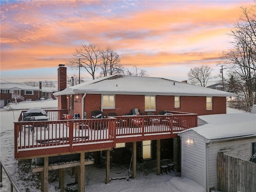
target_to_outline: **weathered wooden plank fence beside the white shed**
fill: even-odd
[[[218,190],[256,191],[256,164],[218,152]]]

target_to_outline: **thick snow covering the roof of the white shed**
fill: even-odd
[[[215,114],[198,116],[208,124],[190,128],[208,140],[256,136],[256,114]]]

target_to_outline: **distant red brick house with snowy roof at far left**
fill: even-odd
[[[38,87],[14,83],[1,83],[0,89],[1,108],[10,102],[38,100],[41,92],[41,89]]]

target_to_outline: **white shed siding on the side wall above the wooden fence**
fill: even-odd
[[[250,160],[252,156],[252,142],[256,139],[241,139],[235,141],[220,141],[210,144],[208,148],[208,177],[209,186],[218,188],[217,158],[218,152],[243,160]]]

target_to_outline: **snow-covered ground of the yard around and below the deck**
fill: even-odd
[[[39,192],[40,174],[31,172],[28,160],[17,161],[14,159],[14,126],[13,122],[18,120],[21,110],[30,108],[57,108],[57,100],[25,101],[19,104],[12,104],[8,108],[0,111],[0,155],[1,162],[6,166],[13,180],[17,183],[21,191]],[[227,113],[244,113],[239,110],[227,108]],[[4,171],[3,171],[4,172]],[[171,174],[140,174],[137,180],[112,180],[109,184],[104,184],[105,170],[96,168],[94,165],[86,166],[88,185],[86,192],[205,192],[204,188],[196,182],[187,178],[181,178],[172,172]],[[60,191],[56,172],[50,173],[49,192]],[[51,182],[52,181],[52,182]],[[74,182],[70,176],[70,170],[66,170],[65,184]],[[3,175],[3,187],[1,192],[10,191],[10,183],[7,176]]]

